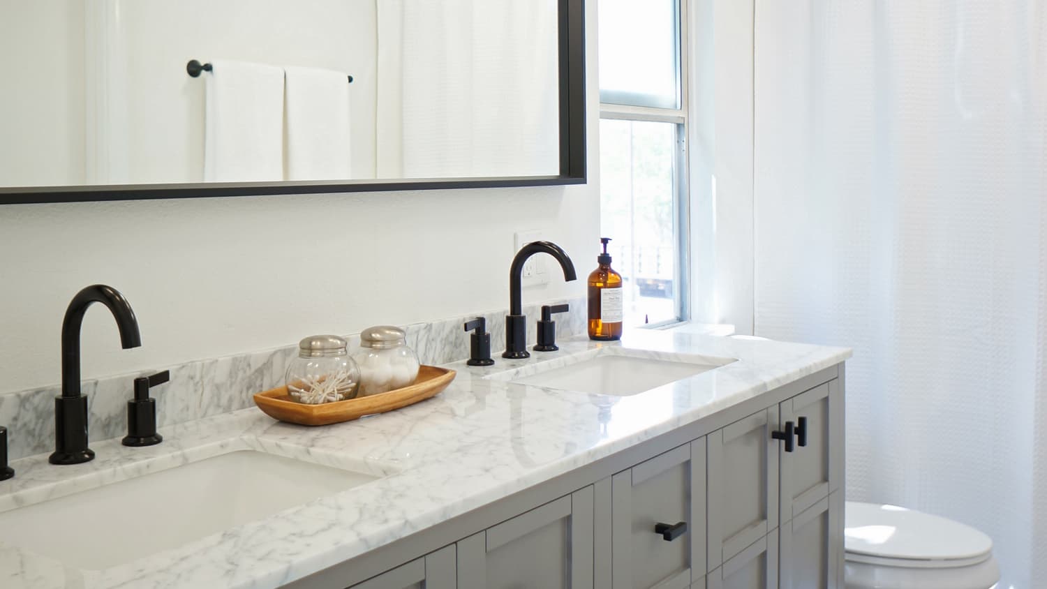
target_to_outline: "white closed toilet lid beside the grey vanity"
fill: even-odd
[[[913,561],[953,561],[985,557],[993,540],[943,517],[894,505],[847,501],[844,549],[853,554]]]

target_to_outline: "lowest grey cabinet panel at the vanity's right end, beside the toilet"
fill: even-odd
[[[843,589],[843,500],[836,492],[782,525],[781,589]]]

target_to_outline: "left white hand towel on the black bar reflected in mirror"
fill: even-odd
[[[284,69],[215,60],[207,81],[205,182],[284,179]]]

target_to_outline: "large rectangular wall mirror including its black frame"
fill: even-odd
[[[0,0],[0,204],[584,181],[583,0]]]

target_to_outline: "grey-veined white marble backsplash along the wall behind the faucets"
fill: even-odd
[[[528,316],[528,345],[535,342],[541,304],[526,307]],[[585,333],[586,301],[584,298],[565,301],[571,311],[555,315],[558,337]],[[403,325],[407,345],[415,349],[423,364],[446,364],[468,358],[469,335],[462,329],[473,317],[487,319],[491,334],[492,356],[505,348],[505,316],[508,311],[489,311],[463,315],[426,323]],[[311,334],[303,333],[302,337]],[[357,334],[347,338],[350,350],[359,346]],[[297,354],[297,342],[285,347],[248,352],[210,360],[160,367],[141,372],[105,377],[83,381],[81,388],[87,394],[90,408],[89,432],[91,440],[122,437],[127,434],[127,402],[133,397],[136,377],[163,369],[171,370],[171,382],[153,391],[159,427],[172,426],[228,413],[253,406],[251,397],[283,384],[288,361]],[[60,367],[54,366],[55,378]],[[16,460],[54,449],[54,398],[62,391],[61,384],[0,394],[0,425],[7,427],[9,459]]]

